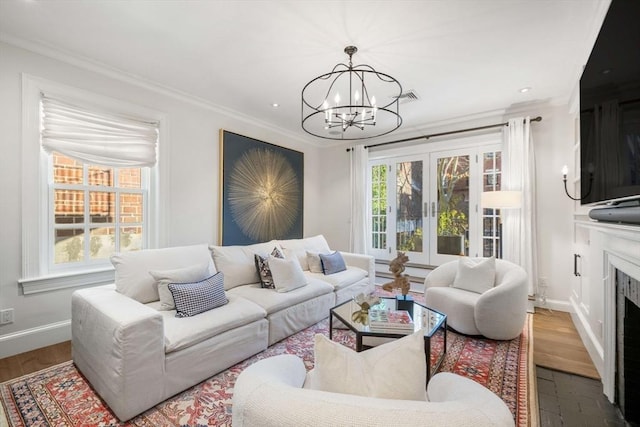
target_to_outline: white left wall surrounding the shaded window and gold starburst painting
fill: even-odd
[[[150,85],[134,84],[115,74],[91,71],[48,56],[0,43],[0,309],[13,308],[15,321],[0,325],[0,358],[70,338],[70,296],[73,289],[21,294],[21,75],[94,92],[165,114],[168,140],[160,149],[169,162],[166,185],[160,189],[165,222],[164,246],[217,243],[219,129],[305,153],[304,230],[319,233],[318,148],[277,132],[234,119],[212,106],[171,95]],[[167,149],[168,147],[168,149]],[[164,154],[163,154],[164,153]],[[164,156],[164,157],[163,157]]]

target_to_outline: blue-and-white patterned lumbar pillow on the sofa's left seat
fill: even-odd
[[[222,272],[199,282],[170,283],[169,290],[176,303],[176,317],[195,316],[229,302]]]

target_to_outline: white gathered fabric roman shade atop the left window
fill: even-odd
[[[141,167],[156,163],[158,124],[90,111],[42,96],[42,148],[93,164]]]

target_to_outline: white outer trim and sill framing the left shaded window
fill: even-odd
[[[49,168],[50,156],[40,143],[40,99],[42,93],[63,99],[78,100],[106,111],[117,111],[134,117],[145,117],[160,123],[158,162],[149,168],[149,197],[147,200],[147,246],[159,247],[165,240],[160,224],[166,224],[166,211],[160,203],[159,190],[165,187],[168,164],[163,152],[168,151],[165,137],[166,118],[151,110],[122,100],[66,86],[50,80],[22,74],[22,276],[18,281],[23,293],[33,294],[77,286],[112,283],[114,269],[110,263],[95,266],[53,269],[49,263],[50,215]],[[165,160],[162,162],[161,160]]]

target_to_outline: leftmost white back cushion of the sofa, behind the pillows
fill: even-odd
[[[111,263],[116,269],[116,290],[143,304],[160,299],[157,282],[149,274],[150,270],[207,264],[208,275],[216,273],[206,244],[121,252],[111,257]]]

